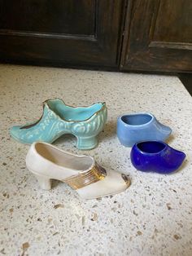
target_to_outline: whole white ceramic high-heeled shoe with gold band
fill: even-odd
[[[42,189],[51,188],[51,179],[58,179],[75,189],[84,199],[94,199],[123,192],[130,185],[129,176],[108,171],[93,157],[76,156],[49,143],[31,145],[26,166],[36,177]]]

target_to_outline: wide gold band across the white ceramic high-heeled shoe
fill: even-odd
[[[102,166],[96,164],[92,169],[86,172],[63,179],[63,182],[68,183],[71,188],[76,190],[105,179],[106,175],[106,170]]]

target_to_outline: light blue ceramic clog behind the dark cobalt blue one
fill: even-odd
[[[117,136],[125,147],[143,140],[165,141],[172,129],[162,125],[151,113],[124,115],[117,121]]]

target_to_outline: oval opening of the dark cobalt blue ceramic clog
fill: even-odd
[[[158,141],[146,141],[137,143],[137,148],[139,148],[142,152],[157,153],[162,151],[165,148],[165,145],[164,143],[160,143]]]

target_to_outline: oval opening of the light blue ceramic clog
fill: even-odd
[[[151,119],[152,117],[149,114],[126,115],[121,117],[121,120],[129,126],[141,126],[151,121]]]

